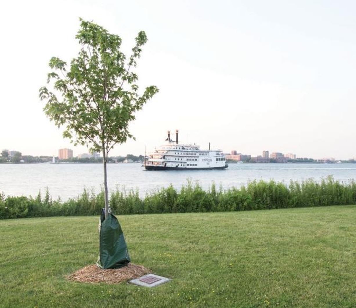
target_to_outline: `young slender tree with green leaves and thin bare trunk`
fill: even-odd
[[[51,58],[47,83],[53,81],[56,93],[41,87],[39,97],[46,101],[43,108],[47,117],[58,127],[64,126],[63,137],[74,145],[87,145],[94,152],[103,154],[105,212],[108,215],[108,183],[106,163],[115,144],[134,137],[128,130],[148,99],[158,92],[149,86],[140,95],[137,75],[132,72],[140,58],[141,47],[147,42],[145,32],[136,37],[132,54],[126,58],[120,51],[121,38],[109,34],[103,27],[80,19],[78,57],[69,68],[57,57]]]

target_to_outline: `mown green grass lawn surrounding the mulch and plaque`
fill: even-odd
[[[98,217],[0,221],[1,307],[356,307],[356,206],[118,217],[148,289],[69,282]]]

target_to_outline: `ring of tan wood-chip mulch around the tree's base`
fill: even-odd
[[[123,281],[135,279],[150,273],[151,271],[141,265],[128,263],[120,268],[103,270],[96,264],[83,267],[81,270],[70,274],[67,279],[70,281],[89,282],[89,283],[120,283]]]

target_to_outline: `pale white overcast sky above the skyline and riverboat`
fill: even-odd
[[[69,147],[42,111],[48,61],[77,55],[79,17],[148,43],[139,84],[160,92],[131,124],[142,154],[167,129],[180,141],[252,155],[356,156],[354,1],[4,1],[0,11],[0,150],[58,155]]]

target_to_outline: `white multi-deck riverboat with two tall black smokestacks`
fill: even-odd
[[[145,159],[146,170],[209,170],[225,169],[227,164],[225,155],[221,150],[200,150],[195,144],[182,144],[171,139],[168,130],[166,143],[161,145]]]

